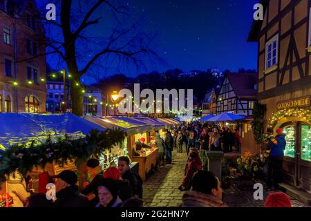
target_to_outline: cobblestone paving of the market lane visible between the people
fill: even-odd
[[[185,148],[185,146],[184,146]],[[144,182],[143,200],[146,207],[176,207],[182,203],[182,194],[178,189],[185,173],[185,164],[187,162],[187,155],[183,153],[176,153],[173,150],[173,163],[160,166],[153,173],[149,179]],[[265,186],[264,182],[263,186]],[[254,200],[252,189],[240,191],[234,184],[229,189],[223,190],[224,201],[230,207],[262,207],[265,200]],[[264,191],[264,199],[271,192]],[[308,207],[305,204],[291,198],[292,206],[294,207]]]

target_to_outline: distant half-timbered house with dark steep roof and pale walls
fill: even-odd
[[[217,95],[216,114],[251,116],[256,100],[256,74],[227,73]]]

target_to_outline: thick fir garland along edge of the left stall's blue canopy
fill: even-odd
[[[22,175],[32,171],[34,166],[44,168],[46,164],[55,162],[64,166],[67,160],[75,160],[78,165],[88,160],[91,155],[99,157],[104,150],[122,142],[125,133],[120,129],[97,131],[93,130],[85,138],[73,140],[64,135],[52,142],[50,135],[44,144],[35,146],[35,141],[28,144],[11,146],[3,153],[0,152],[0,184],[6,180],[6,175],[19,169]]]

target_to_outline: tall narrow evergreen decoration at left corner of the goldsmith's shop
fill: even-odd
[[[263,144],[263,128],[265,126],[265,104],[256,103],[253,109],[252,131],[257,144]]]

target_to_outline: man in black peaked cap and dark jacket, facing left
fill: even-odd
[[[77,175],[73,171],[62,171],[55,177],[55,207],[88,207],[88,198],[78,191]]]

